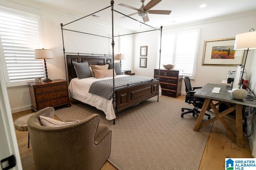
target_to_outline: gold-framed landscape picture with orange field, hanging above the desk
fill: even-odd
[[[235,38],[204,41],[202,65],[242,64],[244,50],[234,50]]]

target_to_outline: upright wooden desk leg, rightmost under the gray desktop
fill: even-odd
[[[242,105],[236,104],[236,145],[243,147]]]

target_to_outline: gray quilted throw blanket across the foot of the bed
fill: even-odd
[[[154,78],[144,76],[126,76],[115,78],[115,90],[144,84],[151,81],[158,81]],[[113,79],[100,80],[93,82],[90,86],[89,93],[111,99],[113,96]]]

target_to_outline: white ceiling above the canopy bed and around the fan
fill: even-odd
[[[98,10],[102,10],[110,6],[110,0],[28,0],[44,7],[58,9],[68,13],[76,14],[78,16],[87,16]],[[150,0],[146,0],[145,5]],[[132,14],[136,10],[119,6],[123,3],[135,8],[140,8],[140,0],[115,0],[114,10],[123,14]],[[202,4],[207,4],[205,8],[200,8]],[[151,8],[151,10],[172,10],[170,15],[148,14],[150,21],[146,24],[159,28],[161,25],[173,25],[185,23],[189,21],[203,20],[245,12],[249,10],[256,10],[256,0],[162,0],[159,4]],[[103,10],[95,14],[99,18],[89,16],[96,21],[106,22],[111,24],[111,8]],[[128,29],[136,30],[141,26],[140,23],[129,18],[120,19],[121,14],[114,12],[114,24],[126,27]],[[132,18],[142,21],[138,15]]]

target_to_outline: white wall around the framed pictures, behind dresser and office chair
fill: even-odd
[[[204,41],[211,39],[224,39],[236,37],[236,34],[248,32],[251,28],[256,29],[256,10],[240,13],[232,16],[204,20],[200,22],[176,25],[175,27],[163,27],[165,31],[186,30],[201,28],[199,39],[199,48],[196,61],[195,79],[191,81],[192,86],[204,86],[207,83],[220,84],[227,78],[229,70],[236,70],[236,66],[202,66]],[[136,34],[134,36],[134,64],[133,72],[136,75],[153,77],[156,63],[157,35],[158,31]],[[148,46],[147,68],[140,68],[140,46]],[[246,64],[247,73],[250,72],[252,63],[252,53],[248,53]],[[182,84],[182,93],[185,94],[184,82]]]

